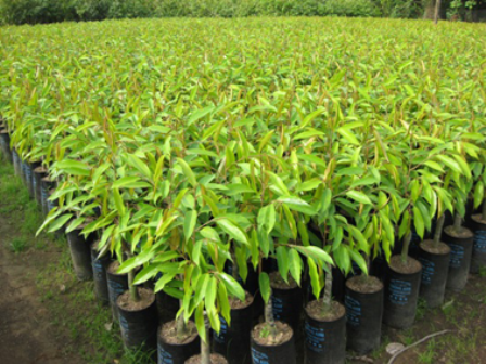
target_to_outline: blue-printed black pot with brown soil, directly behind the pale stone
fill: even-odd
[[[383,322],[393,328],[408,328],[415,321],[422,264],[411,257],[407,262],[400,256],[389,260],[385,280]]]

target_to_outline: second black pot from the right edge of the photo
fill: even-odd
[[[471,266],[471,256],[473,253],[474,235],[465,229],[466,236],[456,237],[452,226],[444,229],[444,243],[450,248],[449,273],[447,275],[446,288],[459,291],[468,283],[469,270]]]

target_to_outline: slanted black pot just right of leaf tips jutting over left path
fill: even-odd
[[[90,234],[85,238],[81,235],[81,230],[82,227],[77,227],[67,233],[67,244],[69,245],[71,259],[77,278],[79,281],[91,281],[93,278],[91,245],[97,239],[97,236],[95,234]]]

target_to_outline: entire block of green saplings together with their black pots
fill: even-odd
[[[0,31],[3,153],[127,348],[294,363],[304,338],[307,363],[342,363],[486,265],[479,28]]]

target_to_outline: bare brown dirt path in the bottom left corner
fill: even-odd
[[[33,280],[57,252],[9,251],[5,237],[16,230],[0,216],[0,363],[86,363],[66,351],[65,340],[59,340],[52,313],[41,302]]]

